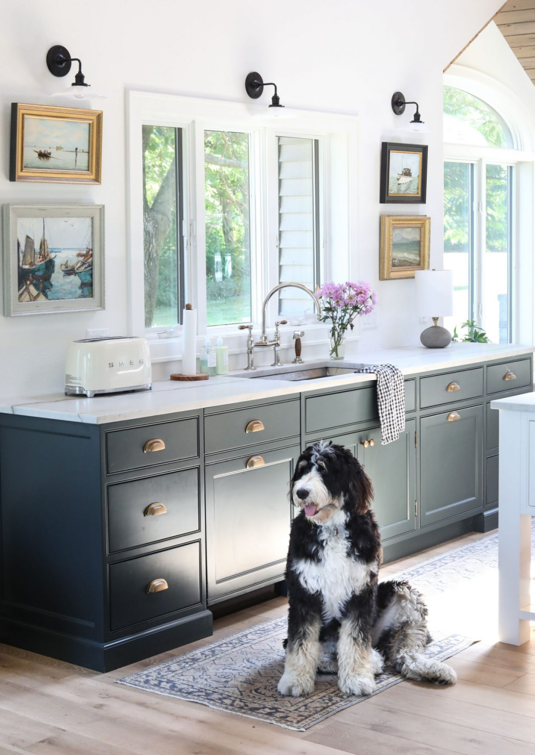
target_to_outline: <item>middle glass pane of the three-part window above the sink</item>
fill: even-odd
[[[249,134],[204,132],[207,324],[251,322]]]

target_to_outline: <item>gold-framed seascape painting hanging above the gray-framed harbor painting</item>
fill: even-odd
[[[11,103],[9,180],[100,183],[102,111]]]

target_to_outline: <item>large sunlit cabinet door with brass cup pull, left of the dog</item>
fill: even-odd
[[[294,445],[207,465],[208,603],[284,577],[299,454]]]

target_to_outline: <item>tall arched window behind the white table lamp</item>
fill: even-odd
[[[444,269],[454,273],[451,331],[466,320],[487,331],[493,343],[512,341],[512,270],[515,263],[512,218],[515,165],[500,160],[512,147],[512,134],[501,116],[483,100],[444,87]]]

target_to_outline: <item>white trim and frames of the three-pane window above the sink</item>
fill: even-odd
[[[156,331],[162,328],[145,328],[144,276],[143,276],[143,156],[142,125],[162,125],[183,128],[183,164],[186,191],[186,245],[185,289],[186,299],[198,310],[198,344],[207,332],[206,289],[198,285],[205,279],[204,260],[204,129],[244,130],[253,136],[253,162],[251,170],[262,175],[262,186],[269,186],[267,196],[256,196],[257,223],[254,229],[257,244],[267,249],[260,255],[260,264],[251,260],[251,277],[259,295],[253,297],[252,320],[260,322],[263,296],[278,282],[278,204],[273,181],[278,180],[277,165],[273,165],[276,149],[275,137],[300,136],[319,139],[321,142],[323,210],[324,210],[324,272],[335,280],[350,279],[355,275],[352,261],[358,250],[356,205],[358,197],[358,118],[337,113],[292,110],[296,117],[275,120],[266,117],[267,106],[249,103],[204,100],[195,97],[127,91],[127,198],[128,198],[128,325],[131,334],[143,335],[149,340],[155,362],[180,359],[180,328],[177,337],[159,339]],[[270,164],[271,163],[271,164]],[[276,186],[276,184],[275,184]],[[260,203],[260,205],[259,205]],[[275,211],[276,210],[276,211]],[[252,219],[251,219],[252,220]],[[336,254],[331,254],[331,248]],[[202,250],[202,251],[200,251]],[[275,253],[276,252],[276,253]],[[260,295],[260,291],[262,295]],[[273,328],[277,297],[269,305],[268,323]],[[312,316],[306,323],[307,344],[327,342],[327,325],[318,324]],[[283,326],[284,334],[295,325]],[[258,328],[255,328],[257,333]],[[245,337],[238,333],[238,325],[211,327],[209,334],[225,336],[230,353],[244,353]],[[353,340],[359,331],[353,331]],[[288,336],[286,336],[287,340]]]

